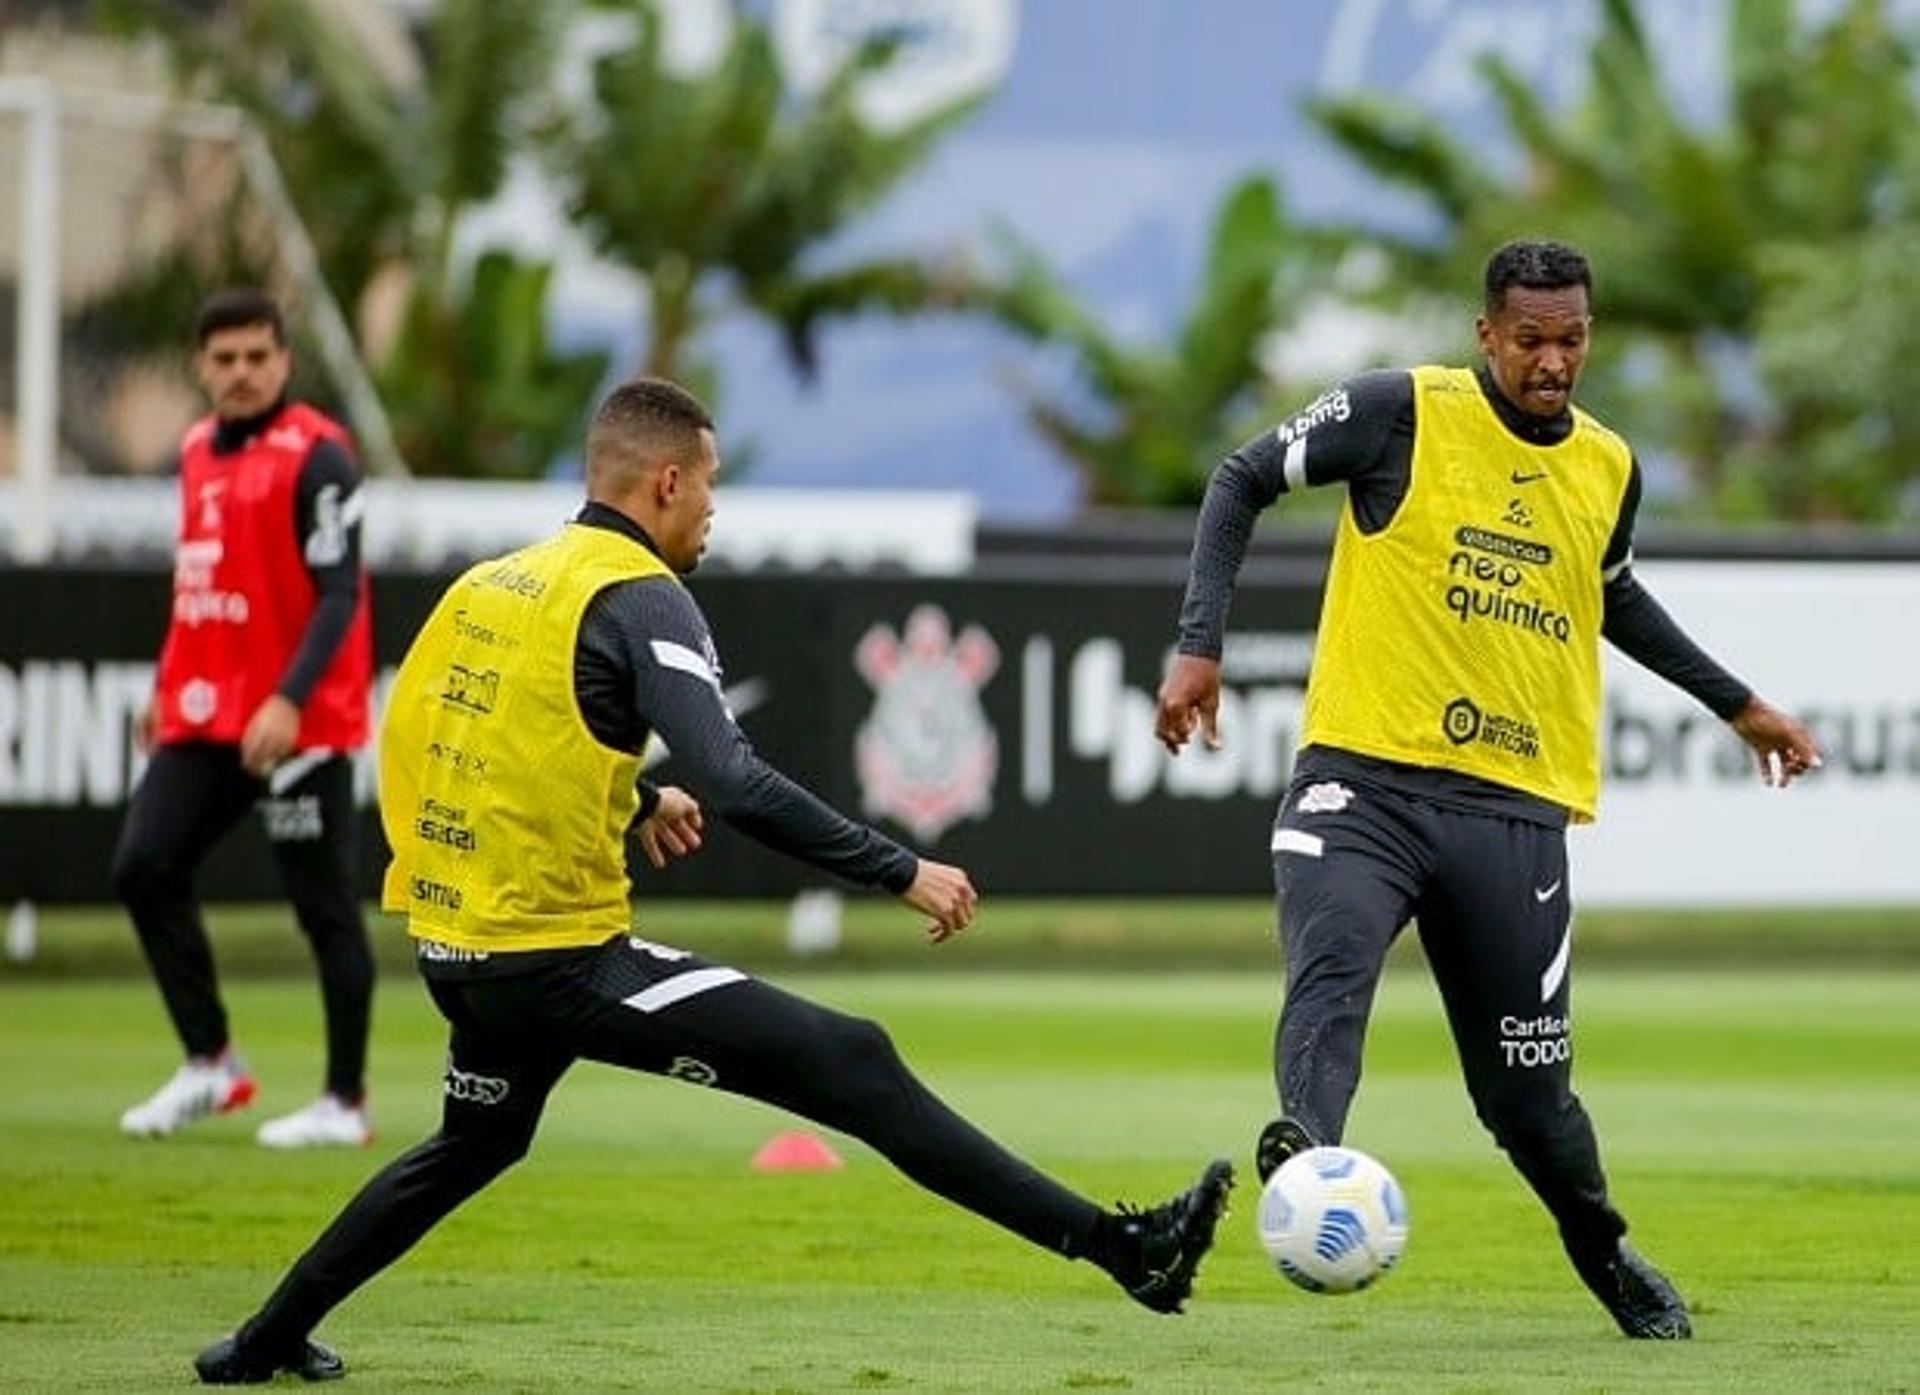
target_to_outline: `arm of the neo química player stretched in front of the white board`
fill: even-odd
[[[1667,608],[1634,576],[1634,518],[1640,512],[1640,462],[1634,461],[1620,501],[1620,518],[1601,562],[1605,612],[1601,633],[1615,649],[1690,695],[1734,727],[1761,766],[1761,779],[1786,785],[1820,764],[1812,735],[1791,716],[1695,645]]]

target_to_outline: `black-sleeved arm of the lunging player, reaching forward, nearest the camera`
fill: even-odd
[[[918,858],[849,819],[753,748],[707,660],[707,622],[682,587],[614,587],[595,599],[589,622],[601,635],[607,627],[620,635],[637,714],[672,752],[676,775],[716,817],[820,871],[900,896],[933,917],[935,940],[973,919],[977,896],[964,871]]]

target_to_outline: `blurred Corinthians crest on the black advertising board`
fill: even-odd
[[[870,816],[887,816],[922,842],[993,808],[1000,743],[979,691],[1000,666],[1000,649],[979,626],[958,639],[947,612],[916,606],[906,633],[868,629],[852,654],[874,687],[874,710],[854,737],[854,769]]]

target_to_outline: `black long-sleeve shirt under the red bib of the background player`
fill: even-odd
[[[286,411],[282,397],[257,416],[221,420],[213,428],[213,453],[232,455]],[[313,614],[286,660],[275,691],[294,706],[305,706],[313,685],[332,662],[340,641],[353,624],[361,572],[361,472],[346,447],[315,441],[294,484],[294,537],[313,578]]]

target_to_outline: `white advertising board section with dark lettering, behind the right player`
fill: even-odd
[[[1920,564],[1636,566],[1709,654],[1814,723],[1788,791],[1684,693],[1607,656],[1599,823],[1574,829],[1586,906],[1920,902]]]

